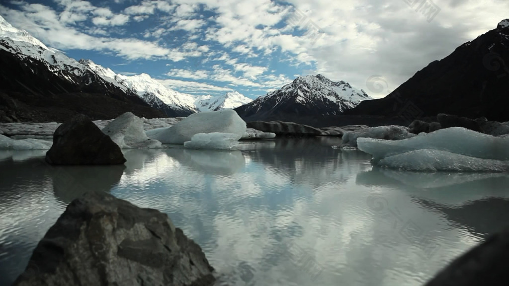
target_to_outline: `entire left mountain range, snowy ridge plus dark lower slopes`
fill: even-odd
[[[91,60],[76,61],[1,16],[0,64],[9,67],[0,71],[0,122],[61,121],[76,112],[94,119],[125,111],[147,118],[178,117],[251,100],[237,92],[216,97],[179,93],[148,74],[125,76]],[[17,110],[6,108],[13,104]]]

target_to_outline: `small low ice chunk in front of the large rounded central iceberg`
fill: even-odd
[[[235,133],[197,133],[191,141],[184,142],[189,149],[231,149],[238,144],[238,134]]]

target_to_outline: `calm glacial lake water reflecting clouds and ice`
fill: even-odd
[[[243,141],[236,151],[124,150],[125,166],[49,166],[0,151],[0,285],[72,199],[109,192],[167,213],[216,285],[422,285],[506,226],[509,177],[374,168],[341,139]]]

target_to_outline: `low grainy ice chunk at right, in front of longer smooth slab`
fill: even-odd
[[[409,171],[509,171],[509,162],[480,159],[441,150],[420,149],[388,156],[379,166]]]

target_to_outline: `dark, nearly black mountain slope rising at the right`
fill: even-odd
[[[438,113],[509,121],[509,19],[434,61],[382,99],[345,115],[417,117]]]

